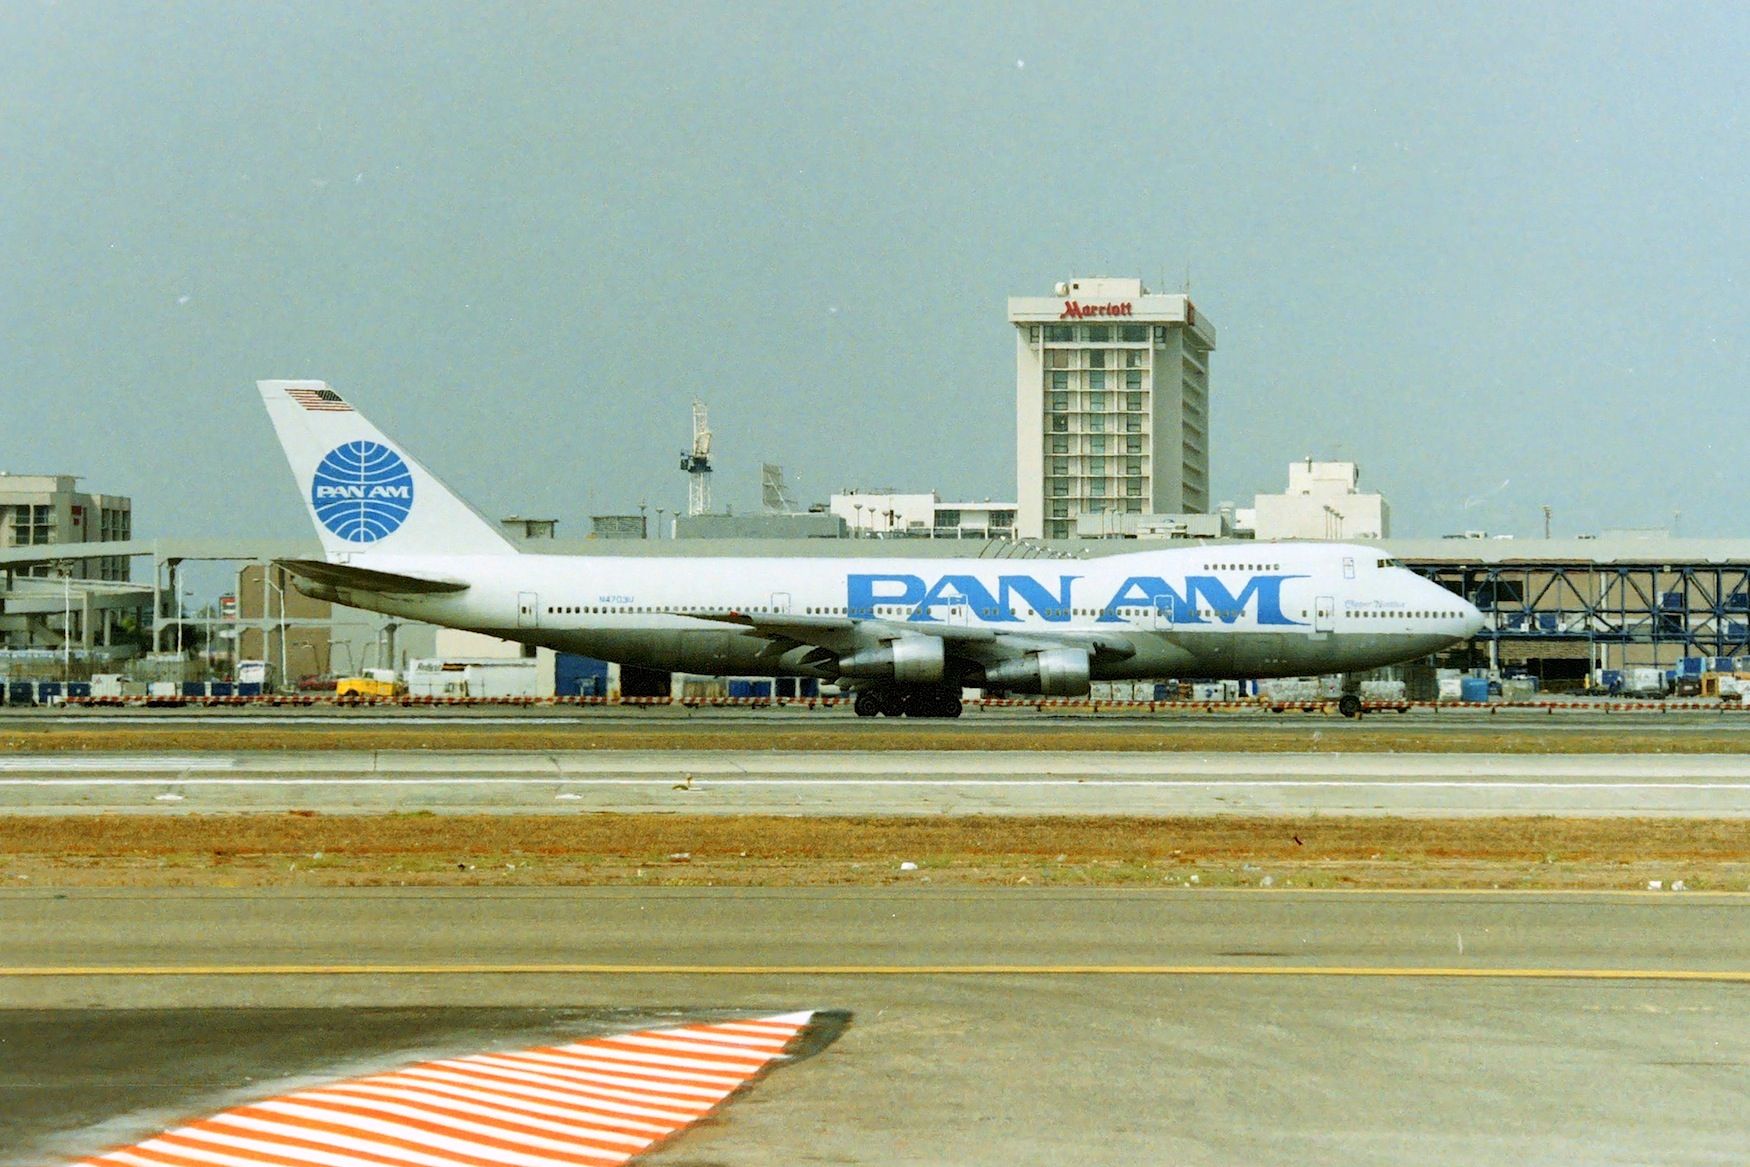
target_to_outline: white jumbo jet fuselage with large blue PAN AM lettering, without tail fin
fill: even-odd
[[[1094,560],[362,553],[345,562],[467,590],[332,590],[341,604],[714,675],[833,675],[821,665],[819,637],[774,635],[770,625],[784,621],[836,626],[831,635],[858,646],[938,637],[985,660],[1096,640],[1094,679],[1360,670],[1440,651],[1482,623],[1461,597],[1349,544],[1195,546]]]

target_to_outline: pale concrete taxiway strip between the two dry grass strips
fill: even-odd
[[[1750,817],[1717,754],[284,751],[0,758],[0,814]]]

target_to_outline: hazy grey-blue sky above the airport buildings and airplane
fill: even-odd
[[[1013,497],[1012,294],[1186,280],[1213,486],[1743,535],[1740,5],[0,0],[0,467],[292,535],[256,378],[481,509]]]

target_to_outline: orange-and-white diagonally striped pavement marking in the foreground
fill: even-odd
[[[74,1167],[612,1167],[782,1060],[814,1017],[422,1062],[238,1106]]]

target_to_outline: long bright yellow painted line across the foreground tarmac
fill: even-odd
[[[46,964],[5,976],[1402,976],[1750,983],[1750,969],[1521,969],[1348,964]]]

